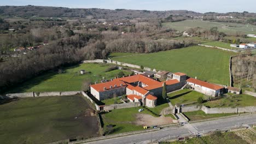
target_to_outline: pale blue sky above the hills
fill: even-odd
[[[40,5],[68,8],[192,10],[199,13],[249,11],[256,0],[0,0],[0,5]]]

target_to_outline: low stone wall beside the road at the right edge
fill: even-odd
[[[205,113],[243,113],[243,112],[256,112],[256,106],[246,107],[219,107],[219,108],[207,108],[202,106],[202,111]]]

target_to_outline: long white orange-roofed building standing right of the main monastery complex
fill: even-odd
[[[224,87],[213,83],[197,80],[190,77],[187,79],[187,84],[190,85],[191,89],[206,95],[212,95],[213,97],[223,94]]]

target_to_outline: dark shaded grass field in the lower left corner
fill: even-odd
[[[90,116],[92,109],[81,96],[15,99],[1,103],[0,109],[2,144],[97,136],[97,117]]]

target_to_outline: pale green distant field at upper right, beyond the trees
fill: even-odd
[[[201,27],[205,29],[210,29],[211,27],[218,27],[219,32],[224,32],[227,34],[256,34],[256,26],[252,25],[243,25],[240,23],[229,23],[229,22],[210,22],[210,21],[201,21],[201,20],[185,20],[179,22],[165,22],[162,25],[170,28],[174,28],[177,31],[186,31],[192,27]]]

